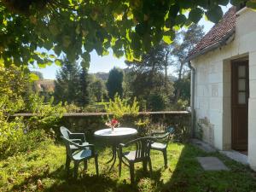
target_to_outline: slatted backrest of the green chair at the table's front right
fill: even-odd
[[[141,137],[134,141],[136,145],[135,160],[143,160],[145,158],[148,158],[152,143],[150,137]]]

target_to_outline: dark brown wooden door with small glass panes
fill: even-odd
[[[247,153],[248,146],[248,58],[231,61],[231,147]]]

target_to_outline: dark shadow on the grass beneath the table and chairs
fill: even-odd
[[[127,167],[124,167],[127,168]],[[128,169],[128,168],[127,168]],[[73,172],[73,169],[71,169]],[[160,179],[160,170],[154,171],[152,177],[149,172],[143,172],[143,169],[136,171],[136,182],[131,185],[130,178],[119,181],[117,174],[108,174],[106,170],[102,171],[99,177],[95,174],[87,174],[85,172],[79,172],[79,178],[74,179],[73,177],[67,177],[67,172],[64,166],[60,166],[55,172],[49,174],[38,174],[32,177],[27,177],[23,183],[15,185],[10,191],[26,191],[30,188],[30,185],[34,185],[36,191],[49,191],[49,192],[60,192],[60,191],[72,191],[72,192],[103,192],[103,191],[116,191],[116,192],[137,192],[141,191],[140,186],[137,185],[138,181],[144,180],[147,184],[148,180],[154,180],[157,183]],[[150,178],[149,178],[150,177]],[[50,184],[50,187],[40,187],[38,180],[44,179],[54,181]],[[151,182],[152,183],[152,182]],[[30,190],[28,190],[30,191]]]

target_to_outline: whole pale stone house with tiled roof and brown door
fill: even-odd
[[[194,131],[256,170],[256,12],[230,8],[188,56]]]

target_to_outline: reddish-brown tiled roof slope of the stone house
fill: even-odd
[[[190,51],[188,58],[222,41],[236,27],[236,7],[230,8],[218,23]]]

